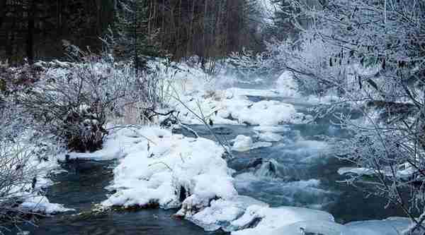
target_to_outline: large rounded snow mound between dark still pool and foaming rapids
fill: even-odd
[[[116,193],[103,207],[203,207],[212,198],[237,195],[224,150],[212,140],[171,135],[151,127],[136,130],[145,136],[114,169],[108,188]],[[149,140],[147,140],[149,139]]]

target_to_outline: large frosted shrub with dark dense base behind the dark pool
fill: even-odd
[[[69,150],[101,148],[109,118],[139,102],[142,86],[130,64],[110,56],[86,54],[78,63],[53,61],[36,64],[42,71],[16,99],[35,119],[35,129],[63,141]]]

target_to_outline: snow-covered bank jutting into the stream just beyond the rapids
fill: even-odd
[[[231,85],[222,85],[219,82],[226,79],[202,80],[193,75],[184,78],[178,76],[170,81],[176,95],[171,95],[167,103],[169,109],[179,112],[179,119],[186,124],[202,123],[199,117],[210,119],[215,124],[244,123],[253,126],[276,126],[279,123],[305,121],[305,115],[297,112],[292,104],[277,100],[249,100],[249,97],[280,97],[278,91],[229,88]],[[263,115],[266,113],[268,115]]]

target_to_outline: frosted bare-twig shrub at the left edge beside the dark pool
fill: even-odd
[[[66,210],[44,196],[50,183],[46,177],[57,167],[50,159],[56,148],[35,135],[31,123],[11,99],[0,107],[0,234],[34,214]]]

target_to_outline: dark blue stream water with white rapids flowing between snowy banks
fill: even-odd
[[[253,101],[261,99],[266,98],[251,97]],[[299,112],[307,112],[310,107],[294,100],[286,102],[295,104]],[[204,126],[191,127],[200,136],[213,139]],[[403,215],[396,208],[384,209],[382,199],[366,199],[364,193],[337,182],[344,179],[337,170],[347,163],[332,157],[327,143],[317,135],[344,138],[347,133],[332,126],[329,120],[280,127],[278,134],[283,135],[283,140],[273,143],[272,147],[235,152],[235,159],[229,162],[229,167],[236,170],[234,183],[240,194],[271,206],[295,205],[326,210],[340,223]],[[223,140],[232,140],[241,134],[256,140],[256,132],[250,126],[214,128]],[[24,225],[22,228],[30,234],[224,234],[205,232],[191,222],[174,219],[171,217],[174,210],[85,213],[90,212],[95,203],[106,199],[105,187],[113,179],[114,165],[115,162],[87,162],[55,176],[54,181],[58,183],[48,189],[47,197],[52,203],[62,203],[77,211],[40,219],[38,227]]]

